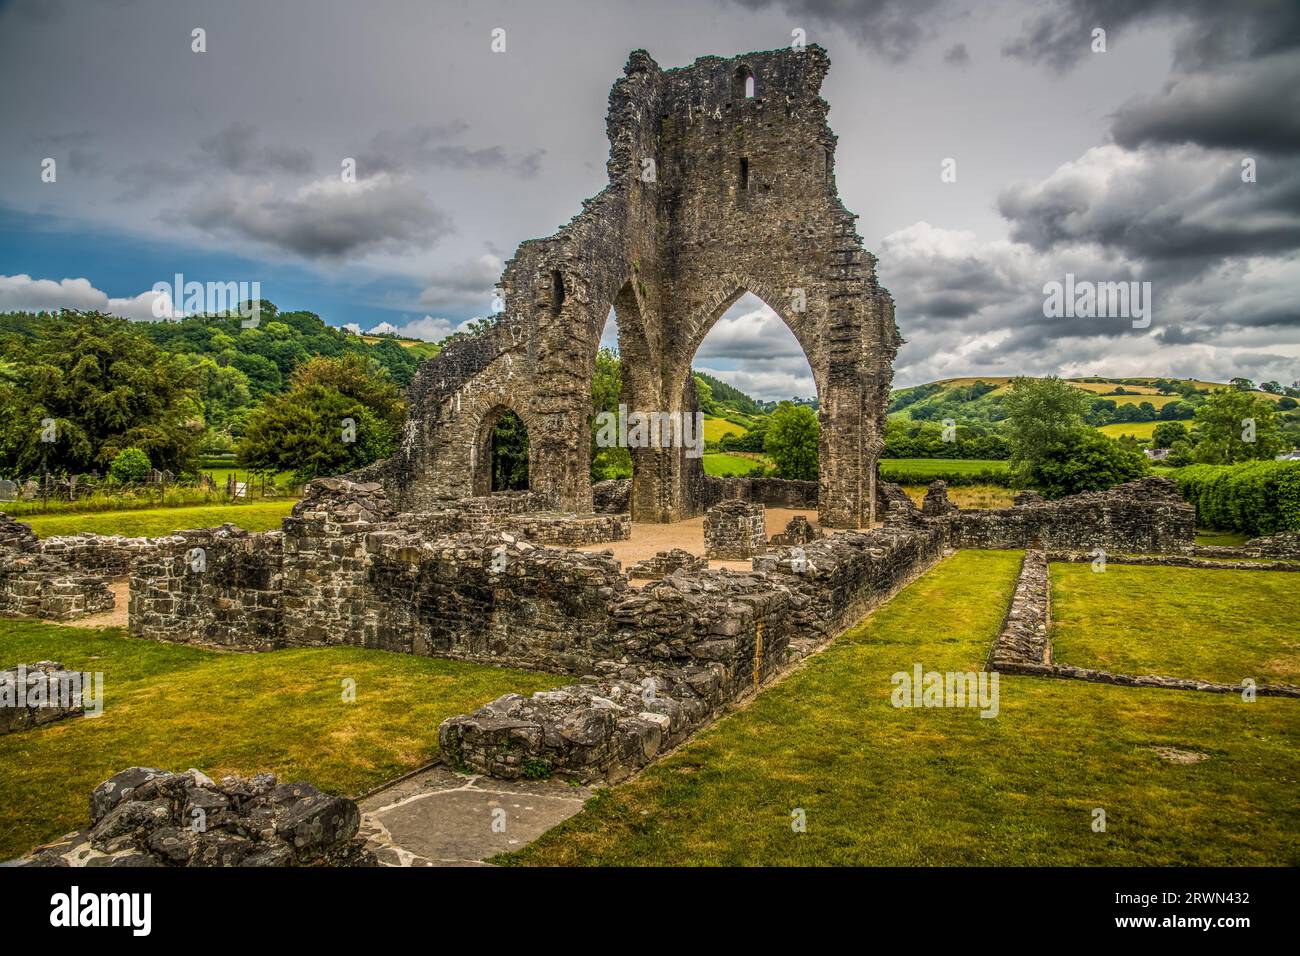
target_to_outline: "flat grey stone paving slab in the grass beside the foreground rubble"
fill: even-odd
[[[592,792],[439,763],[361,800],[361,836],[385,866],[486,866],[572,817]]]

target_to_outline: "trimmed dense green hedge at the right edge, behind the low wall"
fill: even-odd
[[[1191,464],[1173,479],[1202,528],[1252,536],[1300,531],[1300,462]]]

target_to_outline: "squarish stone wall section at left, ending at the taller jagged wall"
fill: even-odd
[[[281,631],[281,532],[233,524],[159,538],[130,578],[135,637],[269,649]]]

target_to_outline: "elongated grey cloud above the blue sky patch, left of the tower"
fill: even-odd
[[[454,232],[422,190],[387,174],[355,183],[325,179],[291,195],[272,187],[250,193],[233,182],[224,191],[205,193],[182,215],[212,235],[254,239],[324,260],[432,245]]]

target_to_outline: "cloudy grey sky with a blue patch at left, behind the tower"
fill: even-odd
[[[438,339],[604,186],[632,49],[796,30],[831,56],[896,386],[1300,378],[1296,0],[0,0],[0,310],[150,319],[182,273]],[[1149,324],[1046,315],[1067,274],[1149,282]],[[696,365],[814,394],[754,297]]]

